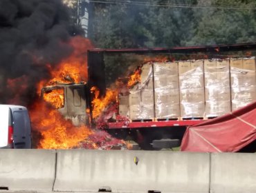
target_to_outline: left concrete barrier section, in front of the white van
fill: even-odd
[[[0,150],[1,190],[51,191],[55,150]]]

